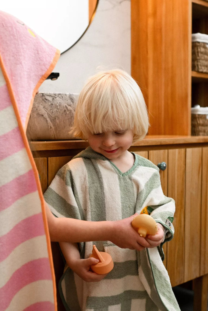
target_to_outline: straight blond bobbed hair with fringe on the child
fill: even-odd
[[[72,131],[87,139],[87,134],[132,129],[133,141],[148,132],[148,113],[136,81],[123,70],[102,71],[89,78],[80,92]]]

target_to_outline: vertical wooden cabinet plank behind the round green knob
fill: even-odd
[[[149,151],[149,160],[152,161],[155,165],[161,162],[166,162],[167,168],[162,171],[160,170],[160,179],[161,179],[161,186],[162,191],[165,196],[167,196],[167,170],[168,170],[168,153],[167,150],[150,150]],[[165,254],[165,259],[163,261],[164,266],[167,268],[167,243],[163,245],[163,251]]]

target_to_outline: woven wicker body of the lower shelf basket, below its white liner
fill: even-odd
[[[191,135],[208,136],[208,118],[206,114],[191,114]]]

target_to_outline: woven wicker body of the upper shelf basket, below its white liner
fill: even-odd
[[[208,44],[192,42],[192,70],[208,73]]]

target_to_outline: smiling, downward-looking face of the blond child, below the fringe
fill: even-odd
[[[115,130],[102,133],[89,133],[89,146],[109,160],[119,158],[133,142],[133,130]]]

